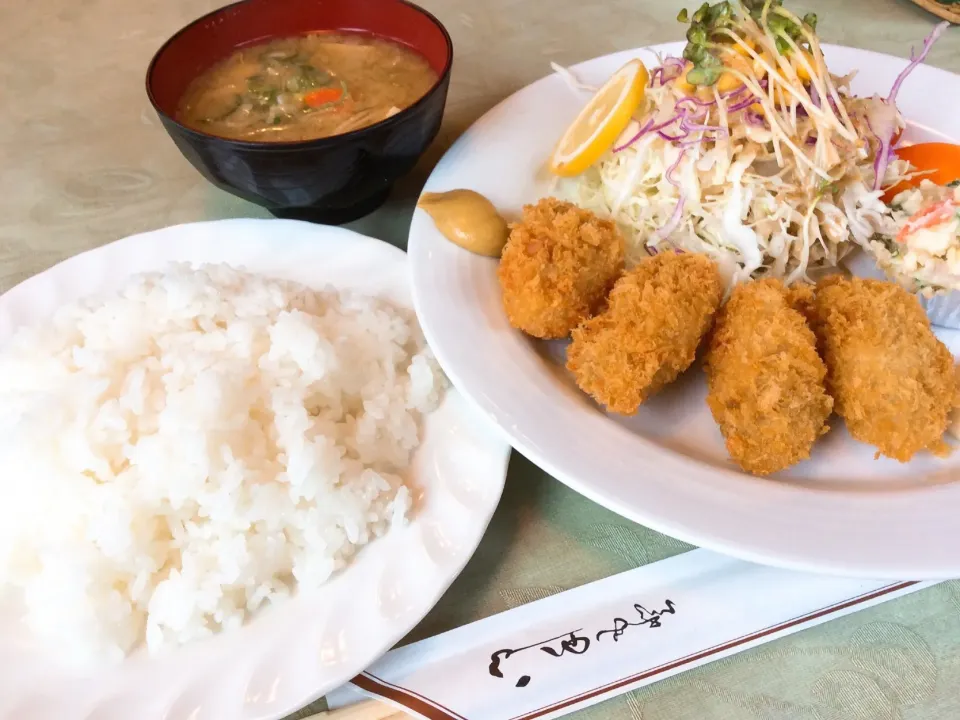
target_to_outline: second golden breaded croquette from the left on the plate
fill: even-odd
[[[632,415],[690,367],[722,298],[706,255],[643,260],[617,281],[606,310],[573,331],[567,368],[598,403]]]

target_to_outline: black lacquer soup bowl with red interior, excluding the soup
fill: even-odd
[[[420,52],[437,72],[419,101],[383,122],[304,142],[245,142],[176,120],[190,81],[238,47],[323,30],[390,38]],[[183,28],[154,56],[147,94],[180,152],[217,187],[279,217],[343,223],[376,209],[436,137],[453,45],[440,22],[405,0],[244,0]]]

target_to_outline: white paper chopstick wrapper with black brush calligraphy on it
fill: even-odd
[[[692,550],[387,653],[327,696],[431,720],[553,718],[934,585]]]

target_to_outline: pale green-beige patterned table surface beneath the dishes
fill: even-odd
[[[414,198],[443,150],[485,110],[548,72],[551,60],[574,63],[682,33],[674,20],[679,0],[422,3],[446,23],[456,45],[445,125],[387,205],[353,226],[400,246]],[[0,291],[135,232],[265,216],[194,172],[143,91],[156,48],[218,4],[0,4]],[[901,56],[934,20],[908,0],[793,4],[819,14],[829,42]],[[947,34],[929,62],[960,71],[960,29]],[[480,549],[410,639],[685,548],[577,496],[515,455]],[[960,584],[949,582],[666,680],[581,717],[955,720],[958,687]]]

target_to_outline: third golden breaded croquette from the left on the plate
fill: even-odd
[[[707,405],[730,457],[755,475],[807,459],[828,430],[827,369],[803,314],[811,301],[808,287],[758,280],[734,289],[717,315]]]

